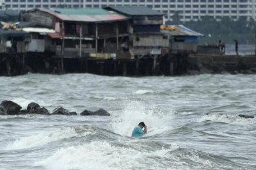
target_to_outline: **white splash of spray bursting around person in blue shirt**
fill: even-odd
[[[143,121],[148,128],[145,136],[161,134],[172,128],[173,111],[154,111],[154,107],[140,101],[125,104],[122,112],[113,113],[112,127],[116,134],[131,136],[133,128]]]

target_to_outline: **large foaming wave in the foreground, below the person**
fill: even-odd
[[[156,147],[157,146],[157,147]],[[145,140],[93,141],[68,146],[36,162],[45,169],[236,169],[246,168],[227,157],[179,148],[159,146]]]

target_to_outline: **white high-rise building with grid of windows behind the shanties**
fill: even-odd
[[[215,19],[241,16],[255,19],[256,0],[5,0],[5,7],[12,10],[31,8],[102,8],[105,6],[147,6],[166,14],[171,19],[178,11],[182,21],[198,20],[204,16]]]

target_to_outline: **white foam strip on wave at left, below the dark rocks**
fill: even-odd
[[[74,127],[62,127],[57,130],[52,130],[51,132],[42,132],[36,135],[30,135],[27,137],[21,137],[7,145],[7,150],[20,150],[25,148],[32,148],[35,146],[41,146],[43,144],[51,143],[54,141],[59,141],[61,139],[68,139],[75,136],[85,136],[91,132],[84,132],[82,134],[77,134]]]

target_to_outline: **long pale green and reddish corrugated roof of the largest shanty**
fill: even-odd
[[[51,13],[61,20],[75,21],[75,22],[108,22],[115,20],[128,20],[128,17],[118,14],[116,12],[109,12],[103,9],[65,9],[65,10],[45,10],[43,12]]]

